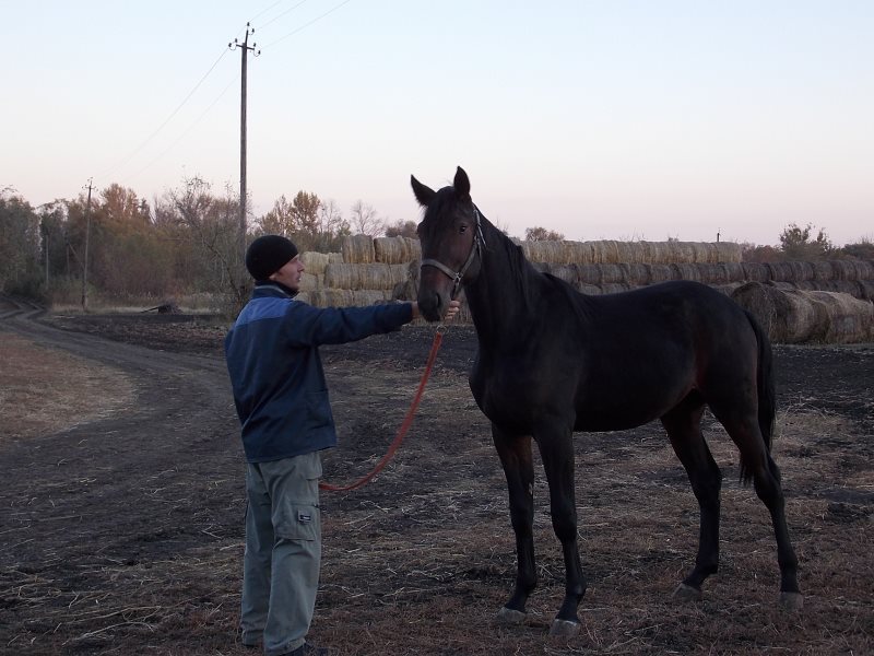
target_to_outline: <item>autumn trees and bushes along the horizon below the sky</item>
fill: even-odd
[[[251,222],[247,238],[283,234],[300,250],[340,250],[350,234],[415,237],[416,223],[393,223],[358,200],[344,215],[332,200],[298,191],[282,196]],[[506,231],[505,231],[506,232]],[[528,241],[560,241],[544,227],[525,230]],[[836,248],[813,225],[788,225],[778,246],[744,244],[747,261],[874,259],[874,244]],[[87,251],[87,276],[85,253]],[[83,282],[86,279],[87,285]],[[239,196],[217,194],[200,177],[182,183],[152,203],[113,184],[88,199],[56,200],[34,208],[11,188],[0,189],[0,292],[73,304],[88,295],[113,303],[208,294],[233,312],[248,298],[241,265]]]

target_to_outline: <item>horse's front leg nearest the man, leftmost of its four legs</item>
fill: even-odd
[[[538,585],[534,569],[534,465],[531,437],[510,435],[492,424],[492,438],[507,477],[510,522],[516,534],[516,588],[498,613],[504,622],[518,624],[525,617],[525,601]]]

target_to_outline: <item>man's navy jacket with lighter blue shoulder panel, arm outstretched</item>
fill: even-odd
[[[412,318],[409,303],[317,308],[279,285],[258,284],[225,338],[246,459],[264,462],[335,446],[319,344],[399,330]]]

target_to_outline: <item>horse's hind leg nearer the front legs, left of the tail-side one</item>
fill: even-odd
[[[671,446],[689,477],[700,511],[695,567],[674,591],[674,596],[683,600],[700,599],[701,584],[719,569],[719,493],[722,473],[701,435],[702,413],[702,402],[689,397],[662,417]]]

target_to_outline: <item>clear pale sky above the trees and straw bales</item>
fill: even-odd
[[[239,185],[418,220],[461,165],[512,235],[874,238],[872,0],[0,0],[0,188]]]

